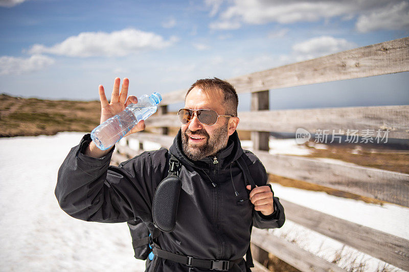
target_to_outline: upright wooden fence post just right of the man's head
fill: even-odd
[[[268,110],[268,90],[252,92],[252,111]],[[254,150],[268,151],[269,132],[252,131],[252,141]]]

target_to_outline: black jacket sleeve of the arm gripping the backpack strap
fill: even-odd
[[[257,186],[269,186],[272,192],[272,200],[274,203],[274,212],[270,215],[264,215],[260,211],[253,210],[253,226],[259,229],[281,228],[285,222],[284,207],[280,203],[280,199],[274,196],[274,191],[270,184],[267,184],[267,172],[264,165],[253,153],[246,151],[246,155],[253,162],[249,165],[249,171]]]

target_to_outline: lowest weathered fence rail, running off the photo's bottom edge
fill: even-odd
[[[301,271],[346,271],[266,230],[253,228],[251,242]]]

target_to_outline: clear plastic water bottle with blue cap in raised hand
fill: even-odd
[[[162,101],[158,92],[138,97],[137,104],[129,104],[124,111],[101,123],[91,132],[91,138],[100,150],[107,150],[122,139],[140,120],[146,120]]]

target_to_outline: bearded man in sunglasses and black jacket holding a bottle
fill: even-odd
[[[128,85],[124,79],[120,93],[117,78],[110,103],[99,87],[101,123],[137,102],[135,96],[127,98]],[[145,152],[118,167],[109,166],[113,148],[101,151],[89,134],[85,135],[58,172],[55,193],[61,208],[87,221],[125,222],[139,217],[151,224],[153,196],[168,174],[172,153],[181,163],[182,181],[176,227],[161,233],[158,246],[170,254],[189,256],[185,259],[194,263],[214,260],[212,268],[246,271],[249,268],[242,257],[249,246],[252,224],[262,229],[280,228],[285,217],[278,197],[266,185],[263,165],[241,148],[236,132],[237,105],[237,93],[228,82],[198,80],[187,92],[185,108],[179,110],[182,125],[169,151]],[[141,121],[129,134],[144,128]],[[253,189],[245,183],[247,168],[257,185]],[[231,262],[220,267],[221,260]],[[155,256],[147,261],[147,271],[209,270],[187,264]]]

